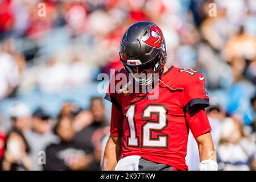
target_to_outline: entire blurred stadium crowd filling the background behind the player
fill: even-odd
[[[141,20],[163,30],[168,67],[207,78],[220,170],[256,169],[256,0],[0,0],[0,169],[101,168],[111,105],[97,75],[122,68],[121,36]],[[189,135],[189,169],[196,150]]]

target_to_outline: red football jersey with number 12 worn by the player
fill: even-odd
[[[115,76],[119,73],[127,75],[125,69],[115,72]],[[110,133],[123,137],[122,158],[139,155],[188,170],[185,156],[189,129],[195,138],[211,130],[204,110],[209,106],[205,78],[191,69],[172,66],[159,79],[159,84],[144,94],[129,93],[129,87],[113,93],[119,81],[110,81],[105,96],[113,103]],[[203,110],[189,115],[193,105]]]

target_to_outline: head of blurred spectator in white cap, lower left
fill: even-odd
[[[10,110],[12,127],[26,133],[31,128],[31,112],[28,106],[22,102],[15,102]]]

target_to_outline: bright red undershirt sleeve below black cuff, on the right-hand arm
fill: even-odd
[[[208,133],[211,129],[204,106],[196,105],[185,113],[186,121],[194,138]]]

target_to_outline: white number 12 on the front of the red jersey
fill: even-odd
[[[127,136],[128,147],[139,147],[135,114],[137,105],[130,105],[126,112],[126,121],[129,127]],[[152,115],[156,114],[156,121],[152,121]],[[148,119],[141,127],[141,148],[168,148],[168,135],[158,134],[152,137],[152,131],[163,131],[168,126],[168,110],[161,104],[148,104],[142,110],[142,119]]]

